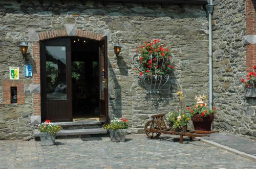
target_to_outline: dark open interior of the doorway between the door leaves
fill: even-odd
[[[99,114],[98,42],[73,38],[71,44],[73,121],[104,121]]]

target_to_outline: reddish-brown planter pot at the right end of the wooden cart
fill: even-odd
[[[214,120],[214,115],[209,114],[207,117],[201,115],[195,115],[191,117],[195,130],[210,131],[211,123]]]

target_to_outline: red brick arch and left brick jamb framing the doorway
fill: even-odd
[[[33,55],[33,85],[40,89],[40,41],[49,40],[59,37],[81,37],[99,41],[103,35],[91,31],[75,29],[75,26],[69,31],[68,29],[52,30],[35,33],[36,40],[32,41]],[[33,93],[33,116],[41,116],[41,95],[40,92]]]

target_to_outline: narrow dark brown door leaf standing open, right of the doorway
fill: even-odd
[[[108,96],[108,41],[104,36],[99,41],[99,112],[101,116],[105,117],[106,122],[109,121],[109,96]]]

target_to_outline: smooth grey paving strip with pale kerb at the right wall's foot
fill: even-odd
[[[255,140],[224,132],[212,133],[210,137],[202,138],[256,156]]]

